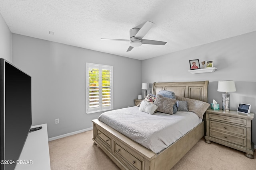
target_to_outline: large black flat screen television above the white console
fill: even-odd
[[[0,59],[1,170],[15,169],[31,124],[31,77]]]

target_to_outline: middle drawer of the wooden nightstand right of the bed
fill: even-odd
[[[224,131],[227,133],[232,133],[234,135],[246,137],[246,127],[240,127],[210,120],[210,129],[215,129],[218,131]]]

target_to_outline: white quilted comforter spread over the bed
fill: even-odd
[[[139,111],[136,106],[107,111],[98,119],[155,153],[169,147],[202,122],[198,115],[190,111],[150,115]]]

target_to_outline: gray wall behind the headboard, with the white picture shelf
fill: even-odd
[[[214,60],[215,72],[191,74],[189,60]],[[202,66],[202,65],[201,65]],[[236,92],[230,92],[230,109],[239,103],[251,104],[256,113],[256,31],[198,47],[142,61],[142,82],[182,82],[209,80],[208,102],[222,104],[218,81],[234,80]],[[222,106],[220,106],[222,108]],[[220,108],[220,109],[221,109]],[[256,143],[256,115],[252,121],[252,141]]]

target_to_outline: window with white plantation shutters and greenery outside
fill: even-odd
[[[86,63],[86,113],[113,109],[113,66]]]

